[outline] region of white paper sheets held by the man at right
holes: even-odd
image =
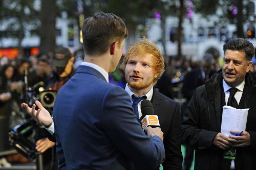
[[[223,106],[221,133],[232,135],[229,131],[245,131],[249,109],[236,109],[231,106]]]

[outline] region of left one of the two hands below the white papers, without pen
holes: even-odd
[[[212,141],[212,144],[214,144],[216,147],[227,150],[231,147],[233,143],[237,142],[234,139],[231,139],[224,135],[223,133],[218,133],[215,137],[214,140]]]

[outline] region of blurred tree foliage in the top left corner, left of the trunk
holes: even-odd
[[[15,38],[19,49],[25,33],[38,34],[39,9],[33,0],[0,1],[0,38]]]

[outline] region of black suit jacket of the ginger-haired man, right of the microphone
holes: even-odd
[[[180,105],[154,88],[152,105],[164,136],[164,169],[182,169]],[[137,169],[141,169],[136,167]],[[159,169],[159,168],[158,168]]]

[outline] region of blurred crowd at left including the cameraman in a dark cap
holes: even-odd
[[[75,57],[72,57],[68,48],[56,47],[53,56],[38,55],[28,59],[17,57],[15,60],[6,60],[4,57],[2,60],[5,62],[1,62],[0,71],[0,121],[3,127],[0,150],[7,151],[11,147],[8,132],[26,119],[26,112],[20,104],[38,99],[39,87],[44,90],[59,90],[74,73]],[[40,136],[35,139],[35,149],[40,153],[49,152],[50,154],[50,149],[54,150],[55,143],[48,140],[46,135],[42,129]],[[45,160],[48,158],[49,156],[45,156]],[[10,166],[8,160],[28,161],[21,156],[8,156],[7,159],[5,157],[2,159],[0,166]]]

